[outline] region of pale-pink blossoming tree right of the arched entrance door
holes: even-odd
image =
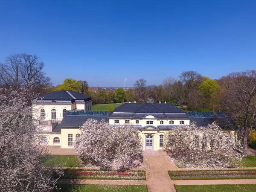
[[[207,127],[195,123],[166,132],[164,149],[175,163],[186,168],[231,167],[241,160],[241,147],[234,135],[227,134],[213,122]]]

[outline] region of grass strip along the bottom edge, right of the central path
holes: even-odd
[[[252,192],[256,184],[233,185],[174,185],[177,192]]]

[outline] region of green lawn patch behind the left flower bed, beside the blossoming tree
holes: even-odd
[[[64,164],[65,167],[93,167],[93,165],[84,165],[80,158],[76,155],[51,155],[51,160],[49,164]]]

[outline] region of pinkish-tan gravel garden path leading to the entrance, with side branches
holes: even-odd
[[[48,148],[52,154],[75,154],[73,149]],[[239,180],[171,180],[168,170],[181,170],[170,160],[164,151],[144,151],[144,162],[137,168],[146,171],[147,180],[59,180],[59,183],[74,184],[111,184],[111,185],[148,185],[149,192],[176,192],[174,185],[216,185],[216,184],[256,184],[256,179]],[[255,168],[241,168],[255,169]],[[185,170],[185,169],[182,169]],[[186,169],[187,170],[187,169]]]

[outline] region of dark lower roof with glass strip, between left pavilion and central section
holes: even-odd
[[[96,119],[98,122],[102,119],[109,122],[106,116],[64,116],[61,121],[61,127],[81,127],[87,119]]]

